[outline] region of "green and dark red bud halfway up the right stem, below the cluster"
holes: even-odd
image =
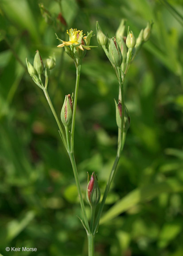
[[[121,105],[121,101],[118,101],[118,104],[115,101],[115,106],[116,106],[116,122],[117,122],[117,126],[118,128],[121,129],[121,116],[122,116],[122,105]],[[124,116],[124,131],[127,132],[128,128],[130,127],[130,116],[128,113],[128,109],[125,106],[125,116]]]

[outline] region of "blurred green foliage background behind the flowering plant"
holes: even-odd
[[[41,14],[36,0],[0,0],[0,252],[87,255],[70,161],[25,58],[33,62],[37,49],[43,60],[55,52],[48,91],[60,115],[64,96],[74,92],[75,67],[64,49],[56,48],[55,32],[63,40],[71,27],[96,33],[98,20],[112,37],[125,18],[136,37],[148,20],[154,25],[125,83],[131,127],[96,236],[96,256],[182,256],[183,1],[41,3],[51,16]],[[98,45],[96,36],[91,44]],[[86,172],[97,173],[103,193],[116,155],[117,94],[117,78],[102,48],[87,51],[75,128],[84,197]],[[37,252],[6,252],[7,246]]]

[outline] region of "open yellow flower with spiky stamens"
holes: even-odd
[[[84,51],[84,48],[86,50],[90,50],[90,48],[85,45],[85,42],[82,38],[82,30],[70,28],[69,31],[67,30],[67,34],[69,35],[69,41],[62,40],[62,44],[59,44],[57,47],[73,45],[75,47],[78,47],[82,51]]]

